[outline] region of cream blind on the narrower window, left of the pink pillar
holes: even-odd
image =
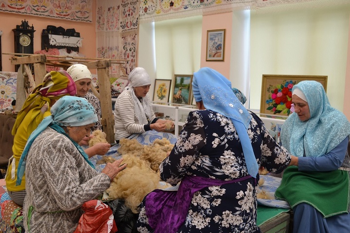
[[[149,40],[145,32],[141,31],[143,25],[143,23],[140,25],[140,38]],[[198,71],[202,43],[202,17],[165,20],[155,22],[154,25],[156,75],[152,77],[150,74],[151,78],[173,80],[175,74],[192,75],[193,72]],[[141,43],[140,40],[141,56],[138,64],[142,67],[147,64],[146,61],[152,60],[153,54],[141,52]],[[153,70],[150,65],[148,67]],[[149,93],[151,98],[153,91],[151,88]]]

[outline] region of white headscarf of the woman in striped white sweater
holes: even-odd
[[[134,100],[135,114],[139,119],[140,124],[148,124],[148,118],[151,118],[151,103],[148,94],[141,101],[135,95],[134,87],[150,85],[151,79],[147,71],[142,67],[134,68],[129,74],[129,84],[126,89],[130,91],[130,94]],[[147,115],[147,116],[146,116]]]

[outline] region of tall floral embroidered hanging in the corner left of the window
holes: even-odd
[[[139,28],[138,0],[99,0],[96,9],[97,56],[125,59],[125,64],[112,64],[111,78],[127,79],[136,65]]]

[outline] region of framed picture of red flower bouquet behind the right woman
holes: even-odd
[[[263,74],[260,113],[289,116],[293,112],[292,88],[295,84],[314,80],[327,91],[327,79],[328,76]]]

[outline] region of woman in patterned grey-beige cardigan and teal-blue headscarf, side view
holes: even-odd
[[[98,120],[87,100],[62,97],[51,114],[30,135],[17,170],[18,185],[25,171],[24,228],[31,233],[73,232],[83,214],[80,207],[126,167],[118,167],[123,160],[117,160],[98,173],[78,145]]]

